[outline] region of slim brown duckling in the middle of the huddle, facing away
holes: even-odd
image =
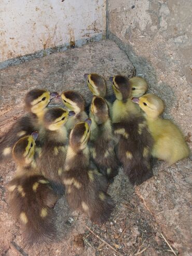
[[[108,179],[118,172],[118,160],[115,155],[115,142],[106,101],[94,96],[91,102],[90,152],[93,163]]]

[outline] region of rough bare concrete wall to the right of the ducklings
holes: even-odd
[[[108,0],[107,35],[191,142],[191,0]],[[190,143],[191,145],[191,143]]]

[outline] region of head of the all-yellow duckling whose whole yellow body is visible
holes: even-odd
[[[132,101],[138,103],[150,118],[157,118],[164,109],[163,101],[154,94],[146,94],[139,99],[133,98]]]

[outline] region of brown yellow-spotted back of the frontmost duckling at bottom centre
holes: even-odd
[[[67,202],[72,209],[86,213],[92,222],[103,224],[114,208],[113,200],[106,193],[108,182],[97,169],[85,166],[84,160],[78,154],[65,166],[62,177]]]

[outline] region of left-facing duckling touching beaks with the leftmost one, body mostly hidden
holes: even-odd
[[[71,131],[75,124],[88,118],[85,112],[85,100],[77,91],[63,91],[61,99],[67,109],[75,112],[75,115],[65,124],[67,131]]]

